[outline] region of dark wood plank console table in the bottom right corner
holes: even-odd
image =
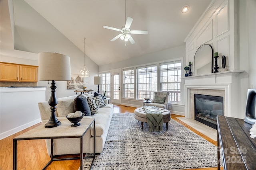
[[[217,116],[218,170],[220,149],[224,170],[256,169],[256,139],[250,138],[251,128],[244,119]]]

